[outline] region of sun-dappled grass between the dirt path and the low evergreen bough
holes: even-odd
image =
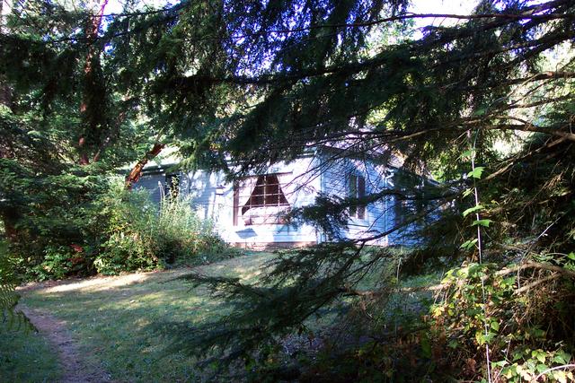
[[[93,354],[94,362],[103,361],[119,381],[133,381],[134,376],[195,381],[201,375],[195,359],[170,349],[179,341],[178,331],[208,325],[234,312],[234,306],[212,295],[207,286],[181,277],[200,273],[250,281],[270,257],[267,253],[162,272],[35,283],[20,293],[26,306],[66,322],[83,352]]]

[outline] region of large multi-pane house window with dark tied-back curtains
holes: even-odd
[[[246,226],[283,223],[281,215],[286,207],[288,199],[277,174],[246,179],[243,186],[234,185],[234,225],[239,217]]]

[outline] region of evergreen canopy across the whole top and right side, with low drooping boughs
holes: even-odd
[[[471,14],[414,14],[401,0],[128,2],[121,13],[106,4],[19,2],[3,24],[0,214],[14,239],[19,227],[35,235],[39,206],[62,215],[63,201],[89,203],[91,177],[143,166],[164,145],[179,148],[182,166],[229,178],[337,145],[333,161],[401,157],[406,170],[440,181],[365,201],[318,198],[294,212],[345,224],[350,205],[398,196],[417,208],[392,231],[419,222],[418,246],[401,260],[367,249],[367,239],[318,246],[279,257],[256,285],[197,277],[237,310],[182,336],[181,347],[252,355],[342,296],[385,295],[393,274],[378,291],[356,289],[382,265],[402,262],[409,274],[426,262],[478,262],[490,265],[481,273],[502,275],[526,258],[571,262],[571,1],[482,0]],[[416,33],[415,21],[434,18],[457,22]],[[57,192],[46,192],[56,179]],[[568,284],[558,288],[569,305]],[[553,327],[549,344],[568,342],[572,324],[553,319],[567,311],[533,318]]]

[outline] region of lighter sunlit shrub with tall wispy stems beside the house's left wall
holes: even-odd
[[[212,222],[199,219],[188,197],[164,197],[158,211],[146,190],[130,192],[118,182],[103,196],[102,214],[107,239],[93,262],[101,274],[152,270],[176,261],[206,262],[227,249]]]

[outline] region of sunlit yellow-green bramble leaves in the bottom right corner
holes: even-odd
[[[488,344],[497,381],[531,381],[537,376],[573,380],[569,368],[561,366],[571,362],[573,352],[569,340],[575,274],[558,275],[562,267],[569,273],[573,263],[557,266],[560,272],[551,283],[549,273],[542,273],[545,265],[498,270],[493,264],[470,264],[450,270],[442,282],[448,286],[446,299],[430,310],[434,347],[442,350],[438,358],[461,371],[458,376],[477,379],[486,376]],[[552,370],[555,367],[560,369]]]

